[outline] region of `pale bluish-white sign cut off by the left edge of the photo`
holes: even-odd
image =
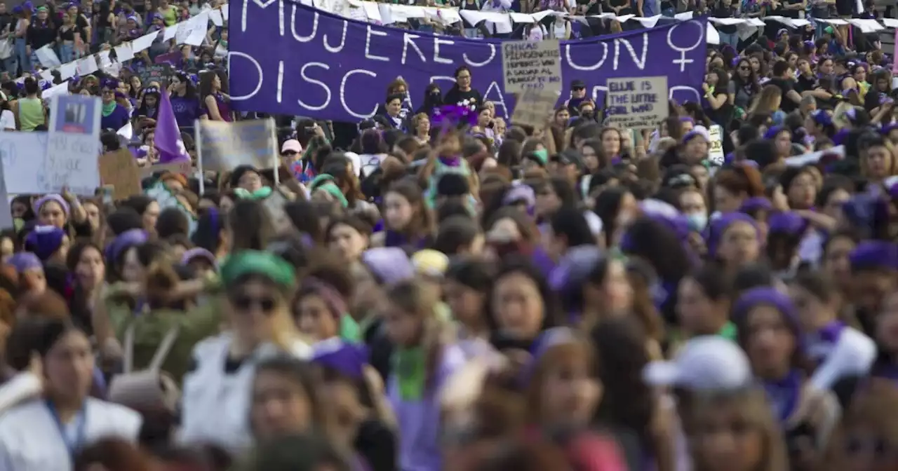
[[[0,133],[3,180],[11,195],[40,193],[38,174],[47,154],[48,133]]]

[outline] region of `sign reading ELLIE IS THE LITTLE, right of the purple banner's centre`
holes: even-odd
[[[667,111],[667,77],[608,79],[608,124],[655,129]]]

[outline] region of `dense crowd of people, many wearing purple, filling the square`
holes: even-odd
[[[35,48],[78,57],[206,6],[17,7],[2,132],[46,129]],[[449,90],[397,78],[361,123],[272,117],[277,169],[154,170],[163,94],[182,131],[269,118],[231,108],[226,31],[69,82],[101,98],[103,150],[179,205],[13,197],[3,471],[898,468],[898,96],[876,37],[722,41],[701,102],[651,130],[605,126],[585,77],[521,126],[462,66]]]

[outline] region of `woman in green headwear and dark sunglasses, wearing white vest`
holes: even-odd
[[[184,376],[182,439],[238,451],[250,444],[251,381],[272,354],[311,354],[290,316],[295,271],[269,252],[242,250],[221,268],[230,329],[200,342]]]

